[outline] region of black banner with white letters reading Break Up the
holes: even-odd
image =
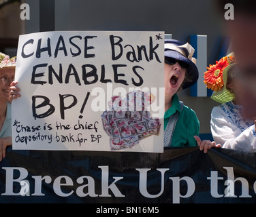
[[[0,162],[0,203],[255,203],[255,153],[15,151]]]

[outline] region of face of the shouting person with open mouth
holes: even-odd
[[[176,62],[175,64],[165,63],[164,70],[165,100],[171,100],[185,79],[186,68]]]

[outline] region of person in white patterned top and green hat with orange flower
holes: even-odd
[[[211,98],[219,103],[211,113],[211,132],[214,142],[201,141],[195,137],[204,153],[212,146],[240,151],[256,151],[255,124],[253,119],[244,119],[240,102],[243,96],[234,53],[210,65],[204,73],[206,87],[214,90]],[[250,140],[250,142],[249,142]]]

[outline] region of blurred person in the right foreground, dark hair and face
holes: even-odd
[[[256,117],[256,1],[218,0],[217,5],[223,15],[227,3],[234,6],[234,20],[225,21],[225,30],[231,38],[244,83],[242,113],[245,118],[252,119]]]

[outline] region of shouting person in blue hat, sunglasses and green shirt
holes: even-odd
[[[177,92],[193,85],[198,79],[193,52],[189,43],[165,39],[165,115],[164,146],[197,146],[199,121],[195,112],[178,100]]]

